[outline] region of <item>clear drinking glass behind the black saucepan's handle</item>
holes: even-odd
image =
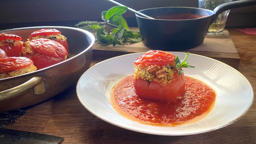
[[[199,8],[213,10],[218,5],[227,3],[233,0],[198,0]],[[224,11],[216,17],[213,23],[209,26],[207,35],[222,35],[230,10]]]

